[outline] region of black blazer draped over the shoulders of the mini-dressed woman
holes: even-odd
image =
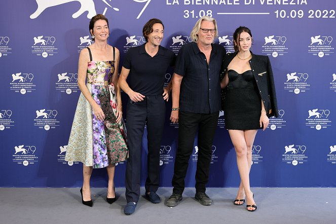
[[[226,56],[224,56],[221,77],[223,77],[227,72],[228,65],[236,56],[236,54],[237,53],[227,53]],[[262,100],[264,102],[267,117],[279,117],[277,96],[275,93],[275,85],[270,58],[264,55],[256,55],[252,52],[251,54],[252,58],[249,60],[250,67],[252,69],[256,84],[258,86],[260,96],[262,97]]]

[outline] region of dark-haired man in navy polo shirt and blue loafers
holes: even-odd
[[[156,194],[160,182],[160,145],[165,119],[165,100],[169,87],[163,88],[166,70],[173,66],[175,54],[160,46],[164,26],[159,19],[151,19],[143,26],[146,43],[128,50],[119,78],[119,85],[128,94],[127,139],[129,159],[126,167],[126,200],[124,213],[135,211],[140,197],[141,141],[147,122],[147,179],[146,198],[160,203]],[[129,77],[128,83],[126,82]]]

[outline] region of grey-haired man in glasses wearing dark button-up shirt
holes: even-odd
[[[213,44],[217,35],[216,20],[204,16],[197,21],[192,32],[192,43],[180,49],[173,74],[170,120],[178,124],[173,194],[166,205],[173,207],[182,200],[184,178],[198,129],[198,161],[195,198],[202,205],[211,205],[205,194],[211,162],[212,140],[217,128],[220,110],[219,73],[225,49]]]

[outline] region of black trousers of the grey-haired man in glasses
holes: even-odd
[[[209,178],[211,162],[211,146],[217,128],[219,111],[212,114],[195,114],[179,111],[178,147],[172,179],[173,192],[182,194],[184,178],[193,153],[194,140],[198,129],[198,159],[196,170],[196,192],[205,192],[205,184]]]

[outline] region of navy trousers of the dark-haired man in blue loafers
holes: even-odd
[[[146,96],[141,102],[128,102],[126,113],[129,159],[126,166],[126,200],[138,202],[140,197],[141,142],[147,121],[146,192],[156,192],[160,183],[160,145],[165,123],[166,105],[162,95]]]

